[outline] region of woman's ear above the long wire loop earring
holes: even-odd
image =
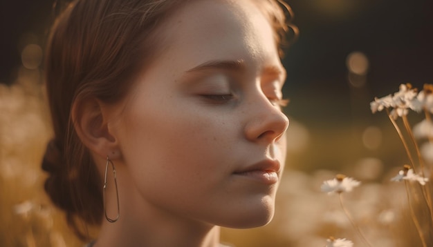
[[[109,111],[104,111],[104,104],[98,99],[76,100],[71,117],[75,131],[84,146],[95,155],[106,159],[118,159],[120,150],[118,141],[109,131]]]

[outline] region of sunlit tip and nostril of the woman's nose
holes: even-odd
[[[287,116],[266,98],[255,102],[250,105],[252,114],[245,126],[246,138],[266,144],[277,141],[288,128]]]

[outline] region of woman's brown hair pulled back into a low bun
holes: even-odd
[[[194,1],[194,0],[190,0]],[[290,8],[279,0],[254,0],[269,19],[276,45],[285,44]],[[185,0],[77,0],[55,21],[46,46],[45,77],[54,138],[42,168],[49,173],[45,190],[77,237],[79,227],[100,225],[102,181],[71,119],[77,101],[95,97],[106,103],[123,99],[138,73],[160,51],[158,26]],[[284,12],[284,8],[287,12]],[[292,30],[297,32],[293,27]]]

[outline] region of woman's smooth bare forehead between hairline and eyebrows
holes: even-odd
[[[181,52],[190,66],[210,59],[279,59],[270,23],[251,0],[190,1],[165,20],[160,34],[165,54]]]

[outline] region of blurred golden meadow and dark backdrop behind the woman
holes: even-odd
[[[433,246],[433,187],[391,181],[411,161],[387,113],[370,109],[375,97],[398,92],[402,83],[418,90],[433,83],[432,1],[288,3],[300,37],[284,57],[290,99],[284,110],[291,124],[277,211],[263,228],[223,229],[223,241],[313,247],[326,246],[332,236],[369,246],[360,231],[371,246]],[[43,78],[52,6],[48,0],[0,3],[0,246],[83,245],[46,197],[40,168],[52,137]],[[424,118],[407,115],[412,127]],[[396,123],[404,124],[402,118]],[[431,177],[433,151],[420,147],[423,171]],[[338,195],[322,192],[324,181],[340,173],[360,186]]]

